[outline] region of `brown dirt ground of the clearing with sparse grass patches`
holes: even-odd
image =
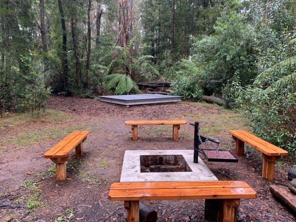
[[[125,107],[94,99],[52,97],[51,117],[37,120],[8,115],[0,120],[0,221],[126,221],[123,202],[109,201],[110,184],[119,182],[125,150],[193,149],[193,126],[181,125],[180,139],[172,140],[172,126],[140,126],[139,141],[131,140],[126,120],[181,119],[200,122],[201,133],[218,138],[233,153],[230,129],[249,129],[235,111],[206,103]],[[54,164],[43,157],[75,129],[91,130],[84,155],[68,162],[67,180],[55,180]],[[204,145],[205,146],[205,145]],[[207,148],[215,145],[207,144]],[[247,149],[238,163],[206,162],[219,180],[243,180],[258,197],[243,199],[240,222],[294,222],[296,218],[277,202],[271,184],[287,185],[287,166],[279,163],[275,180],[261,177],[261,153]],[[202,222],[204,200],[147,201],[158,212],[158,222]]]

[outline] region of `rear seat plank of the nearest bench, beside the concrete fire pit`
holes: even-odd
[[[244,181],[215,181],[215,183],[209,183],[209,181],[186,181],[186,182],[123,182],[113,183],[111,189],[161,189],[161,188],[221,188],[221,187],[232,187],[232,188],[245,188],[250,187]]]

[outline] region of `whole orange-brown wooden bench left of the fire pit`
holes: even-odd
[[[75,148],[75,157],[81,158],[83,152],[82,143],[86,140],[90,131],[74,131],[53,148],[44,153],[45,158],[50,158],[56,164],[56,180],[65,180],[67,177],[66,161],[70,152]]]

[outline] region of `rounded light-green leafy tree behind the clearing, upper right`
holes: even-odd
[[[251,26],[244,24],[240,14],[230,10],[222,14],[214,29],[213,35],[203,36],[194,43],[194,59],[204,71],[204,80],[207,83],[218,80],[226,84],[237,74],[243,85],[249,84],[256,74]],[[221,87],[214,92],[220,93],[220,90]]]

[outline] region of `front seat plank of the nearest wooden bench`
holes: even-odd
[[[208,186],[194,188],[158,188],[157,183],[161,186],[162,182],[154,182],[150,189],[113,189],[109,192],[109,199],[116,201],[132,200],[169,200],[169,199],[240,199],[254,198],[256,192],[249,186],[247,187],[210,187],[215,185],[216,181],[208,181]],[[186,186],[187,182],[183,182]],[[198,182],[196,182],[198,184]],[[149,183],[148,183],[149,184]],[[152,188],[153,187],[153,188]]]

